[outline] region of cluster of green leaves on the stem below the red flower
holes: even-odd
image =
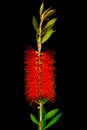
[[[47,103],[47,99],[43,99],[42,103],[43,103],[43,106],[42,106],[42,115],[43,115],[42,116],[42,130],[46,130],[47,128],[54,125],[60,119],[62,112],[58,113],[59,109],[53,109],[49,112],[46,112],[44,104]],[[40,115],[40,111],[39,111],[39,115]],[[30,114],[30,118],[31,118],[33,123],[38,125],[38,129],[39,129],[39,120],[36,119],[36,117],[33,114]]]

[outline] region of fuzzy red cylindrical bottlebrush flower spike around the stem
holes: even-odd
[[[25,94],[30,103],[55,98],[54,54],[47,51],[39,55],[29,47],[25,51]]]

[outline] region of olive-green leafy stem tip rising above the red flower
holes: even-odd
[[[52,16],[55,12],[56,10],[51,9],[51,7],[44,10],[44,2],[42,2],[39,9],[40,22],[38,23],[36,17],[33,16],[32,23],[36,31],[36,41],[37,41],[37,48],[39,53],[41,52],[42,44],[45,43],[55,32],[55,30],[53,30],[53,26],[57,18],[50,19],[50,16]],[[43,26],[44,21],[45,21],[45,25]]]

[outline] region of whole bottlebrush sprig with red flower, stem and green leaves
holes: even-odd
[[[39,119],[30,114],[30,118],[38,126],[38,130],[46,130],[51,127],[62,115],[62,112],[57,114],[59,112],[57,108],[46,112],[44,107],[45,103],[54,102],[56,98],[54,52],[41,52],[42,44],[55,32],[53,26],[57,18],[50,19],[55,11],[51,8],[44,10],[44,2],[42,2],[39,9],[39,24],[35,16],[32,19],[36,31],[37,50],[31,46],[25,50],[25,95],[30,105],[38,104]],[[51,120],[48,122],[48,119]]]

